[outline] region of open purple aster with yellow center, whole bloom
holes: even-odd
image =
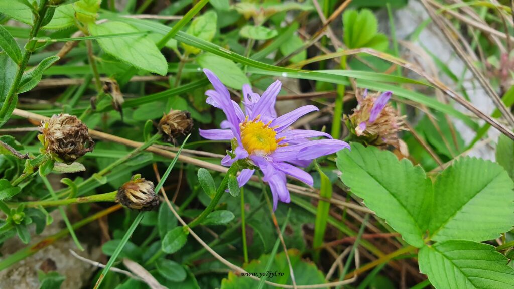
[[[290,202],[286,174],[313,185],[313,177],[296,166],[305,167],[317,157],[350,149],[346,142],[332,139],[323,132],[286,130],[300,117],[318,111],[318,108],[306,105],[277,117],[274,104],[282,86],[280,81],[273,82],[262,96],[253,93],[250,85],[244,85],[243,112],[230,99],[227,87],[216,75],[208,69],[204,69],[204,73],[214,87],[205,93],[207,103],[222,109],[227,120],[222,122],[221,130],[200,130],[200,135],[212,140],[231,140],[232,151],[223,158],[222,165],[231,166],[237,160],[250,164],[237,177],[240,187],[248,182],[255,169],[263,172],[263,180],[268,182],[273,196],[273,210],[277,208],[278,200]],[[327,139],[308,139],[313,137]]]

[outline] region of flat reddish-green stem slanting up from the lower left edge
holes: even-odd
[[[95,220],[102,218],[103,216],[106,216],[116,210],[119,210],[120,208],[121,208],[121,205],[119,205],[119,204],[114,205],[110,208],[100,211],[94,215],[87,217],[86,219],[83,219],[83,220],[73,224],[72,228],[77,230],[80,227],[85,226],[86,224],[89,224]],[[58,232],[50,237],[47,237],[32,246],[25,247],[24,249],[21,249],[21,250],[15,252],[14,254],[7,256],[5,259],[0,261],[0,271],[2,271],[5,268],[8,268],[9,266],[11,266],[14,263],[17,263],[29,256],[36,254],[39,250],[50,246],[51,244],[55,243],[57,240],[66,236],[68,234],[68,232],[69,232],[68,229],[63,229],[60,232]]]

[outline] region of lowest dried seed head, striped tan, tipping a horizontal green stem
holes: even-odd
[[[116,202],[127,208],[151,211],[159,206],[159,196],[154,191],[154,183],[136,174],[118,189]]]

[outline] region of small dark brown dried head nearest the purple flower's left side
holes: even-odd
[[[171,142],[177,136],[186,135],[193,129],[191,114],[187,111],[171,110],[161,118],[158,129],[164,140]]]

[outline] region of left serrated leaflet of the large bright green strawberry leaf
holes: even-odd
[[[419,166],[389,151],[352,143],[337,153],[341,180],[371,210],[415,247],[424,245],[432,204],[432,183]]]

